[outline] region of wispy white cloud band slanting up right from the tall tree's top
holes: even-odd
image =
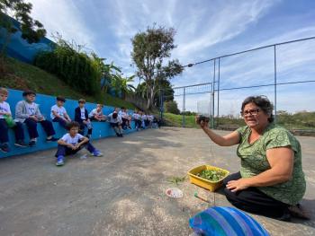
[[[246,31],[249,24],[257,22],[272,4],[275,2],[231,1],[221,2],[221,5],[214,4],[207,11],[203,9],[202,12],[196,13],[199,19],[184,24],[184,29],[187,28],[188,31],[193,29],[193,32],[178,36],[180,46],[176,49],[175,56],[180,58],[192,56],[205,48],[236,37]]]

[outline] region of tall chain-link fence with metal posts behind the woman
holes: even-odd
[[[253,48],[190,64],[184,73],[198,74],[207,66],[208,82],[174,87],[174,98],[186,127],[187,114],[207,113],[211,127],[244,124],[242,101],[266,95],[274,104],[275,122],[286,127],[315,131],[315,37]],[[161,93],[161,117],[163,101]],[[203,105],[202,105],[203,104]],[[207,111],[207,112],[205,112]],[[288,120],[293,118],[290,124]]]

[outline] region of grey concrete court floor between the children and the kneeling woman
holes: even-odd
[[[223,133],[223,132],[220,132]],[[253,215],[271,235],[315,235],[315,137],[299,137],[311,221],[279,222]],[[220,147],[197,129],[165,127],[106,138],[54,165],[54,150],[0,159],[0,235],[189,235],[188,220],[214,205],[229,205],[185,179],[184,197],[166,197],[171,177],[211,164],[238,170],[236,147]],[[197,191],[211,204],[193,197]]]

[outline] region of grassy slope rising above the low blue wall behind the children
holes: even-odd
[[[36,66],[15,60],[14,58],[6,58],[5,67],[7,74],[4,75],[4,78],[0,79],[0,86],[16,90],[31,89],[35,92],[53,96],[63,95],[73,100],[85,98],[86,101],[104,103],[107,106],[113,107],[135,108],[130,102],[114,98],[107,93],[87,96],[76,92],[55,75],[49,74]]]

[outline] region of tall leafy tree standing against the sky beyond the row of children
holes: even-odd
[[[137,66],[137,75],[146,84],[147,109],[152,107],[158,83],[169,80],[181,74],[183,66],[177,59],[165,61],[171,57],[171,51],[176,48],[174,44],[175,30],[154,25],[147,31],[137,33],[132,41],[131,57]]]

